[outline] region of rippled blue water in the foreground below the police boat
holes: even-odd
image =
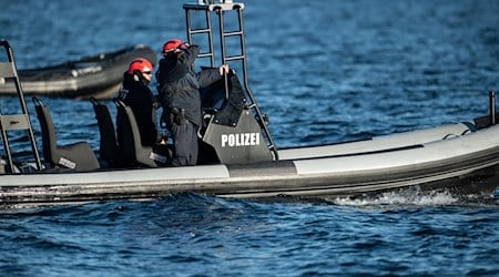
[[[497,275],[497,203],[182,194],[1,214],[0,271],[26,276]],[[441,198],[447,198],[442,202]]]

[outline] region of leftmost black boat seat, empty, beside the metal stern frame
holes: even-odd
[[[33,98],[37,116],[42,132],[43,157],[53,167],[74,171],[93,171],[100,168],[99,161],[90,144],[78,142],[69,145],[57,145],[55,127],[49,107]]]

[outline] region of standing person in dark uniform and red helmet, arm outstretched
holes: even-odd
[[[200,89],[221,80],[228,72],[224,64],[195,73],[194,61],[198,53],[197,45],[179,39],[170,40],[163,44],[163,59],[156,72],[163,121],[174,143],[173,166],[196,164],[197,130],[202,125]]]

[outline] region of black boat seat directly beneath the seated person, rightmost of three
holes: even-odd
[[[166,145],[156,144],[154,146],[142,145],[139,125],[135,115],[130,106],[120,100],[114,100],[118,107],[118,129],[121,129],[118,137],[119,151],[126,166],[159,167],[165,166],[170,162],[171,154]]]

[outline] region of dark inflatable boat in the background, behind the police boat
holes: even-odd
[[[157,58],[151,48],[142,44],[114,52],[99,53],[61,64],[19,70],[19,79],[27,94],[63,98],[109,98],[116,94],[123,72],[130,62],[143,57],[155,63]],[[0,79],[0,95],[16,95],[12,82]]]

